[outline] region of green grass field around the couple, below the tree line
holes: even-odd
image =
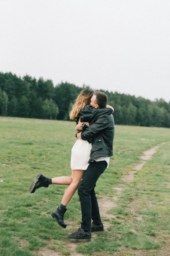
[[[115,217],[102,216],[107,228],[92,233],[91,242],[73,243],[67,235],[81,223],[77,192],[67,206],[68,228],[63,229],[50,212],[66,186],[50,185],[34,194],[29,186],[38,173],[71,174],[74,127],[67,121],[0,117],[0,255],[170,255],[170,129],[115,127],[109,169],[96,186],[98,198],[114,202],[117,196],[117,207],[108,211]],[[123,182],[122,175],[133,170],[143,151],[162,142],[167,143],[134,180]],[[119,194],[117,187],[122,188]]]

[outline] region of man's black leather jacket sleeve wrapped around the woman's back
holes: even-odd
[[[92,138],[102,131],[106,130],[108,127],[107,116],[102,116],[92,123],[86,130],[81,132],[81,138],[83,140],[91,140]]]

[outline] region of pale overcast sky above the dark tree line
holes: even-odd
[[[169,0],[1,0],[0,71],[170,101]]]

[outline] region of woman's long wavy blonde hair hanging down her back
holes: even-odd
[[[74,120],[77,118],[78,113],[81,111],[84,106],[90,104],[90,100],[93,96],[93,91],[91,89],[84,89],[80,92],[75,103],[73,105],[72,110],[70,111],[70,119]]]

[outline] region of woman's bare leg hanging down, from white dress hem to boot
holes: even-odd
[[[70,183],[66,191],[64,192],[63,199],[61,201],[61,204],[66,206],[74,193],[76,192],[78,185],[80,183],[81,177],[83,176],[84,171],[83,170],[72,170],[74,171],[74,178],[73,181]]]

